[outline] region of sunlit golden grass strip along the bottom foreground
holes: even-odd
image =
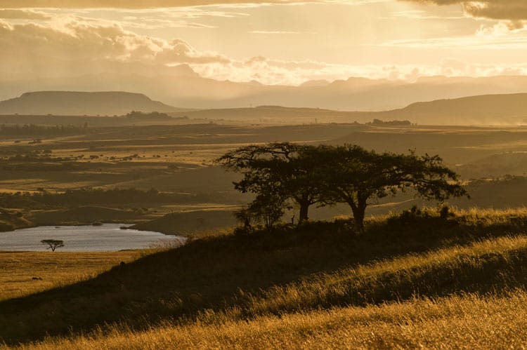
[[[527,349],[527,293],[415,299],[216,323],[114,327],[20,349]]]

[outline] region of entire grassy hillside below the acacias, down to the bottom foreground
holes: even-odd
[[[4,300],[0,338],[91,349],[525,344],[511,310],[527,299],[526,214],[413,210],[370,220],[362,235],[339,220],[210,236]],[[475,337],[494,323],[494,337]]]

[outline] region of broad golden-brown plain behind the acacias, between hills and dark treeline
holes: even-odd
[[[525,128],[448,126],[178,126],[89,128],[82,135],[0,136],[2,191],[64,191],[79,187],[136,187],[160,191],[232,190],[232,175],[212,161],[249,143],[359,144],[379,152],[440,154],[464,177],[523,175]],[[35,142],[37,138],[38,142]],[[493,166],[490,166],[492,165]],[[225,196],[228,198],[229,196]]]

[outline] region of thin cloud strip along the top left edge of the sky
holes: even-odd
[[[305,0],[0,0],[2,8],[162,8],[221,4],[295,4]],[[317,2],[317,1],[311,1]]]

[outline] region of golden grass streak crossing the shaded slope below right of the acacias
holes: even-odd
[[[429,295],[434,294],[430,290],[431,283],[436,283],[438,290],[435,292],[440,293],[441,285],[447,288],[453,283],[453,277],[449,274],[467,275],[470,278],[471,274],[481,274],[479,271],[483,271],[489,260],[510,262],[521,251],[527,251],[527,237],[501,237],[468,246],[453,246],[431,253],[409,254],[357,265],[329,274],[318,274],[289,285],[275,286],[261,296],[248,296],[249,310],[251,314],[275,314],[281,310],[301,309],[299,305],[316,308],[324,304],[341,304],[346,300],[352,302],[353,299],[360,302],[361,295],[368,300],[368,294],[377,293],[393,293],[404,298],[403,294],[408,290],[400,288],[400,285],[405,285],[414,295],[419,295],[419,292]],[[435,281],[430,280],[430,274],[434,275]],[[476,276],[474,279],[477,279]]]

